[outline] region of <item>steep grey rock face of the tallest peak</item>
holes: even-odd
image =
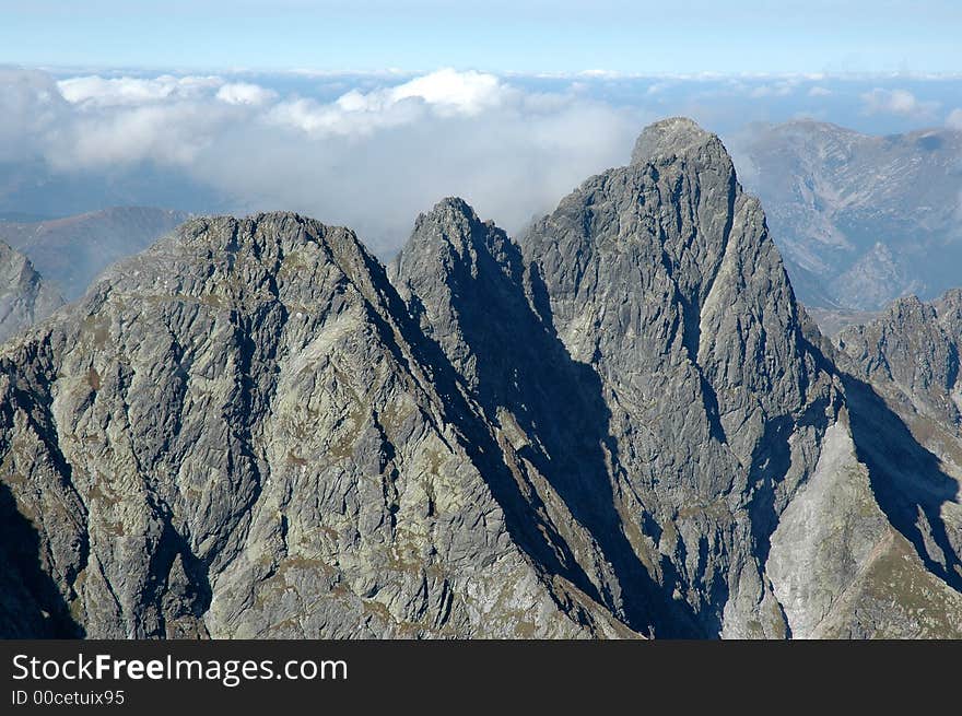
[[[782,636],[769,538],[814,468],[832,377],[718,138],[667,120],[633,160],[562,200],[525,255],[600,378],[619,512],[666,596],[695,634]]]

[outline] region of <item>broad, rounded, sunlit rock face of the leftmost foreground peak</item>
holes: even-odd
[[[345,230],[200,220],[8,348],[4,529],[42,570],[4,536],[2,631],[627,634],[513,538],[399,307]]]

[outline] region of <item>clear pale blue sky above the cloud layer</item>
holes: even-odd
[[[0,62],[175,69],[962,71],[962,2],[0,0]]]

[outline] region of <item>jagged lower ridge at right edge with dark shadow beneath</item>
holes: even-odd
[[[859,454],[871,468],[878,504],[898,530],[879,570],[898,575],[888,577],[890,584],[903,585],[899,609],[885,610],[877,589],[868,589],[866,597],[871,623],[885,624],[893,635],[905,630],[960,634],[960,308],[959,291],[930,304],[900,298],[879,318],[837,338],[849,404],[875,416],[861,426],[853,420]],[[914,564],[924,565],[926,573],[915,568],[910,577],[901,572],[912,547]],[[912,608],[906,611],[905,605]],[[833,630],[857,635],[864,625]]]

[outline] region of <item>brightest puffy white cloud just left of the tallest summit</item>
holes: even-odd
[[[259,125],[204,150],[197,176],[248,198],[247,210],[306,211],[390,254],[418,212],[449,195],[520,228],[586,176],[625,163],[652,119],[577,93],[523,92],[474,73],[449,79],[329,103],[283,99]]]

